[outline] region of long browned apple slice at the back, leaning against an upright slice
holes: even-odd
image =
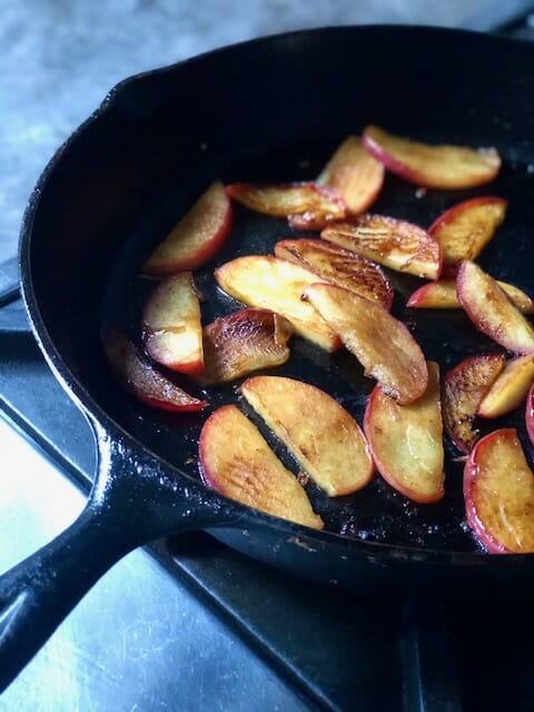
[[[298,229],[320,230],[347,212],[343,198],[315,182],[234,182],[226,186],[226,194],[256,212],[287,217]]]

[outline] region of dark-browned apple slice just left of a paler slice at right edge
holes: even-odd
[[[468,356],[449,370],[442,385],[443,424],[448,437],[468,454],[478,439],[473,423],[478,407],[504,367],[504,354]]]

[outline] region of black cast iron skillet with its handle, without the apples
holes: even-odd
[[[98,473],[79,520],[0,580],[2,686],[109,566],[136,546],[186,530],[208,528],[260,561],[356,591],[532,590],[533,558],[487,556],[465,531],[462,465],[452,451],[447,496],[438,505],[415,507],[378,478],[335,502],[310,488],[327,523],[320,533],[208,491],[195,462],[206,414],[165,415],[132,399],[107,367],[100,334],[118,322],[138,337],[136,317],[150,287],[139,267],[212,179],[313,178],[337,144],[368,122],[422,140],[498,148],[504,167],[488,187],[422,197],[388,176],[373,209],[428,225],[473,195],[508,198],[506,224],[481,261],[533,293],[533,67],[531,44],[463,31],[297,32],[129,79],[61,147],[24,217],[22,290],[48,363],[92,427]],[[217,261],[269,251],[288,234],[283,221],[237,210]],[[205,322],[237,306],[215,289],[214,265],[197,275]],[[428,358],[446,369],[494,348],[459,312],[407,312],[404,297],[415,281],[397,280],[394,308]],[[316,383],[360,419],[372,384],[347,355],[328,356],[297,339],[277,373]],[[234,386],[208,397],[211,409],[238,399]],[[521,414],[505,423],[524,438]]]

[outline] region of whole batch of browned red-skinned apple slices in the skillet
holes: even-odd
[[[241,379],[287,362],[297,337],[327,353],[346,349],[354,368],[376,380],[363,428],[314,384],[249,377],[235,402],[202,425],[198,464],[205,483],[322,528],[308,481],[327,496],[343,496],[365,487],[376,469],[413,502],[439,501],[445,433],[467,458],[465,515],[481,545],[493,553],[534,551],[534,475],[520,437],[497,428],[478,439],[476,428],[478,418],[500,418],[525,404],[534,443],[534,300],[475,261],[505,220],[507,201],[469,198],[429,227],[368,212],[387,171],[424,189],[461,190],[490,182],[500,168],[494,148],[429,146],[368,126],[337,148],[314,181],[215,181],[144,265],[144,274],[159,281],[140,314],[142,346],[119,332],[106,335],[115,373],[150,406],[201,411],[209,396],[182,390],[177,374],[200,387]],[[215,266],[216,284],[244,308],[202,327],[195,270],[227,241],[235,202],[285,218],[291,236],[274,235],[271,254],[241,254]],[[495,349],[466,354],[441,375],[390,314],[389,270],[429,280],[406,307],[463,309]],[[275,454],[278,447],[293,458],[297,476]]]

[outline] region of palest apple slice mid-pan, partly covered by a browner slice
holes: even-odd
[[[248,306],[271,309],[285,316],[295,332],[327,352],[340,346],[339,337],[301,299],[306,287],[320,277],[286,259],[266,255],[246,255],[215,270],[219,286]]]

